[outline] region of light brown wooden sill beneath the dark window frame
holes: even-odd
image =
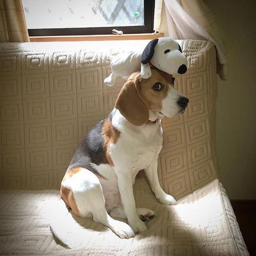
[[[75,35],[75,36],[30,36],[30,42],[68,42],[68,41],[108,41],[142,40],[163,37],[163,34],[110,34],[110,35]]]

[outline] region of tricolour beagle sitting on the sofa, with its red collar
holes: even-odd
[[[121,238],[147,230],[152,210],[136,208],[133,184],[144,169],[159,202],[175,204],[158,181],[161,118],[185,111],[188,99],[173,87],[172,75],[152,69],[149,79],[133,73],[108,118],[82,140],[61,182],[60,195],[80,217],[112,229]],[[128,224],[114,218],[127,218]]]

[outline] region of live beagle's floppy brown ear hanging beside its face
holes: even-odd
[[[139,75],[129,79],[118,94],[115,104],[120,113],[133,125],[143,125],[149,118],[148,106],[138,92]]]

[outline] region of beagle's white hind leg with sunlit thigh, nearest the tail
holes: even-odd
[[[91,212],[95,222],[108,226],[121,238],[134,236],[130,226],[114,220],[108,215],[101,184],[93,172],[82,169],[70,178],[69,183],[68,181],[66,183],[74,193],[75,203],[81,217],[87,217]]]

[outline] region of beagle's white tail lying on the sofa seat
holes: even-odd
[[[51,231],[59,241],[65,246],[71,248],[68,241],[67,219],[69,215],[69,208],[65,202],[60,198],[59,200],[49,200],[44,207],[44,215],[48,219]]]

